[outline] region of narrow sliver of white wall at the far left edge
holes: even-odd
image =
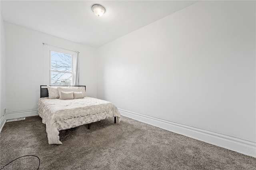
[[[0,131],[6,120],[4,115],[4,109],[6,108],[6,87],[5,87],[5,32],[4,32],[4,20],[2,15],[0,15]]]

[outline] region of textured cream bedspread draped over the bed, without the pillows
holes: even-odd
[[[46,124],[49,144],[62,144],[59,130],[110,117],[117,117],[118,123],[120,122],[120,113],[115,105],[92,97],[70,100],[43,97],[38,101],[38,115],[42,118],[42,123]]]

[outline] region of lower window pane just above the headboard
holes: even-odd
[[[72,73],[61,73],[52,71],[51,85],[71,85]]]

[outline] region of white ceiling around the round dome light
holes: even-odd
[[[10,1],[1,0],[4,21],[73,42],[99,47],[142,28],[197,1]],[[106,13],[97,17],[91,10],[101,4]]]

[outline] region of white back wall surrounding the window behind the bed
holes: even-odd
[[[6,33],[6,117],[34,115],[43,85],[43,42],[80,51],[80,85],[96,97],[96,49],[4,22]]]

